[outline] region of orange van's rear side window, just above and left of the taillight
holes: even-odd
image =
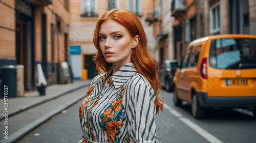
[[[187,67],[196,67],[202,45],[193,46],[189,55]]]

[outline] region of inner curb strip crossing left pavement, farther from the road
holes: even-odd
[[[91,83],[85,83],[85,84],[80,85],[80,86],[78,86],[78,87],[75,87],[75,88],[73,88],[73,89],[71,89],[71,90],[69,90],[69,91],[61,92],[61,93],[59,93],[59,94],[57,94],[57,95],[55,95],[55,96],[51,96],[51,97],[46,98],[46,99],[44,99],[44,100],[41,100],[41,101],[32,103],[32,104],[30,104],[30,105],[23,106],[23,107],[21,107],[21,108],[18,108],[18,109],[16,109],[16,110],[13,110],[13,111],[11,111],[11,112],[8,113],[8,118],[9,118],[9,117],[12,117],[12,116],[14,116],[14,115],[16,115],[16,114],[19,113],[19,112],[25,111],[25,110],[27,110],[27,109],[29,109],[29,108],[31,108],[31,107],[37,106],[37,105],[39,105],[39,104],[45,103],[45,102],[47,102],[47,101],[50,101],[50,100],[52,100],[52,99],[58,98],[59,96],[62,96],[62,95],[71,93],[71,92],[73,92],[73,91],[75,91],[75,90],[81,89],[81,88],[83,88],[83,87],[89,86],[90,84],[91,84]],[[5,117],[0,117],[0,121],[2,121],[3,119],[5,119]]]

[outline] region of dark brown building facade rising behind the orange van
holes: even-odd
[[[218,34],[256,35],[254,0],[173,0],[174,59],[181,60],[188,44]]]

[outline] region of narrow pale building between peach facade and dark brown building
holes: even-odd
[[[148,17],[147,21],[152,21],[154,25],[154,37],[157,42],[157,61],[161,65],[164,60],[174,59],[173,52],[173,24],[171,17],[172,0],[155,0],[154,16]]]

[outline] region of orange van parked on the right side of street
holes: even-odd
[[[208,107],[251,109],[256,117],[256,36],[216,35],[192,41],[174,81],[174,104],[191,104],[195,118]]]

